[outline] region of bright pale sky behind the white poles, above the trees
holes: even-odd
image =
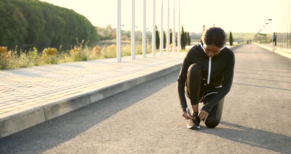
[[[41,0],[73,9],[85,16],[94,26],[117,25],[117,0]],[[168,0],[155,0],[156,25],[167,31]],[[178,30],[179,0],[175,0],[175,30]],[[273,33],[276,31],[277,0],[181,0],[181,26],[184,31],[201,33],[203,25],[222,28],[225,32]],[[173,29],[174,0],[170,0],[170,28]],[[146,28],[152,31],[153,0],[146,0]],[[268,19],[273,19],[268,21]],[[265,25],[265,23],[269,23]],[[132,0],[121,0],[121,29],[131,30]],[[135,0],[135,25],[143,29],[143,0]],[[266,26],[263,28],[263,26]]]

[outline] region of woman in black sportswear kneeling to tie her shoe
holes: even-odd
[[[206,30],[201,39],[203,43],[188,51],[178,77],[182,116],[189,119],[187,128],[190,129],[200,129],[200,120],[208,128],[219,124],[235,63],[234,53],[224,46],[226,35],[221,28]],[[187,108],[185,94],[191,101],[192,115]],[[204,106],[198,112],[200,102]]]

